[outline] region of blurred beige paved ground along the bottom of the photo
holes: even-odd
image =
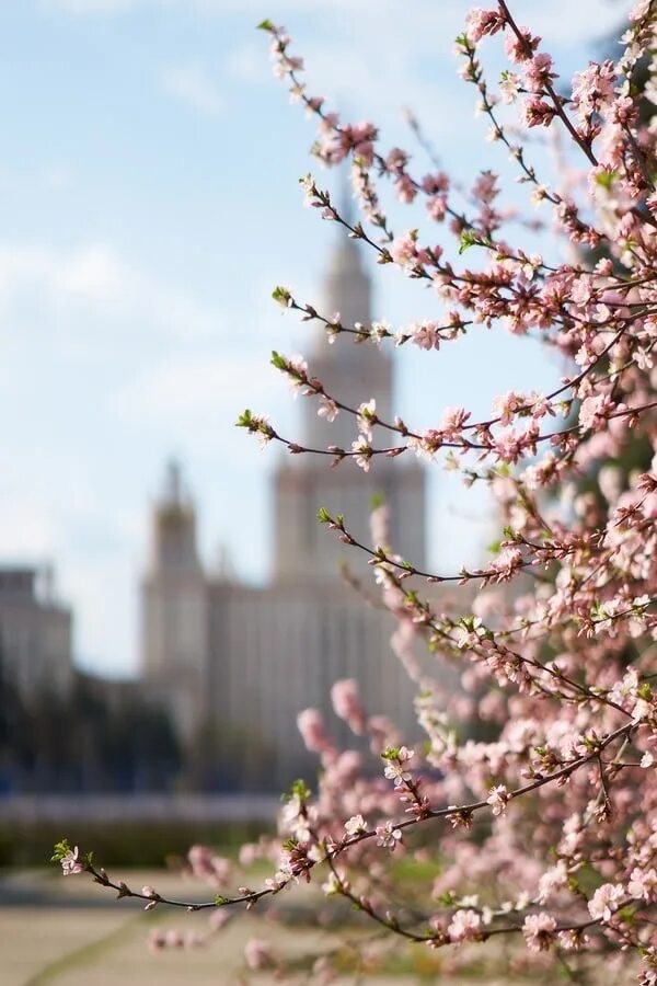
[[[155,886],[165,895],[184,899],[209,899],[203,887],[166,873],[112,873],[130,886]],[[302,891],[302,888],[298,888]],[[291,903],[292,898],[288,898]],[[302,956],[313,949],[328,950],[337,939],[330,932],[273,924],[257,910],[231,920],[206,945],[168,948],[153,952],[149,933],[159,928],[183,936],[208,933],[205,914],[154,908],[146,914],[138,902],[117,902],[115,894],[84,878],[62,878],[55,868],[39,873],[15,873],[0,880],[0,986],[273,986],[270,974],[247,976],[243,951],[250,938],[262,938],[287,956]],[[360,935],[360,931],[355,931]],[[438,953],[422,952],[427,961],[441,961]],[[479,959],[477,954],[477,959]],[[448,953],[445,954],[449,961]],[[419,974],[419,967],[418,967]],[[308,974],[286,978],[290,984],[312,984]],[[336,986],[511,986],[546,983],[534,972],[527,977],[479,975],[472,979],[449,975],[344,976]],[[618,978],[601,972],[596,986],[619,986]]]

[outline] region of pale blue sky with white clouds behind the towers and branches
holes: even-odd
[[[223,543],[245,577],[266,577],[276,454],[233,422],[252,406],[293,432],[268,354],[302,352],[313,330],[269,293],[283,283],[316,300],[336,230],[302,207],[299,176],[333,177],[308,158],[312,127],[273,79],[255,23],[283,21],[312,91],[377,121],[385,145],[411,142],[410,105],[464,182],[508,171],[456,74],[466,3],[263,2],[0,4],[0,560],[54,561],[76,656],[102,673],[137,666],[149,502],[172,454],[204,557]],[[514,10],[568,74],[626,5]],[[423,221],[392,210],[400,229]],[[379,316],[435,310],[399,272],[372,274]],[[448,404],[485,413],[495,393],[548,387],[562,369],[532,343],[480,333],[428,359],[402,353],[399,406],[419,425]],[[445,569],[481,550],[492,519],[445,474],[431,491],[430,553]]]

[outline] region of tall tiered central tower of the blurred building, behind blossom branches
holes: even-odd
[[[342,231],[341,231],[342,232]],[[324,283],[324,310],[339,312],[346,326],[371,323],[371,285],[362,264],[360,245],[342,236],[330,259]],[[384,346],[355,344],[354,336],[338,335],[330,344],[318,332],[309,354],[310,372],[327,393],[351,408],[374,398],[377,414],[393,416],[393,365]],[[353,415],[341,411],[333,422],[318,415],[318,401],[302,403],[302,443],[310,448],[336,445],[350,449],[357,438]],[[393,436],[374,428],[373,445],[394,444]],[[373,457],[365,473],[353,460],[327,468],[325,457],[300,455],[281,463],[275,474],[275,559],[278,582],[335,578],[342,560],[362,572],[366,558],[346,549],[316,521],[320,506],[344,514],[350,534],[371,544],[369,515],[372,498],[381,495],[390,508],[391,548],[415,564],[425,553],[425,473],[416,461]]]

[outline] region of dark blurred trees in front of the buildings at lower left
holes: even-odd
[[[262,740],[199,723],[183,744],[140,689],[76,672],[66,698],[38,689],[26,700],[0,654],[0,796],[272,789]]]

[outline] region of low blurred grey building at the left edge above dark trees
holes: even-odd
[[[36,692],[65,698],[72,687],[72,616],[56,597],[53,572],[0,567],[0,666],[24,701]]]

